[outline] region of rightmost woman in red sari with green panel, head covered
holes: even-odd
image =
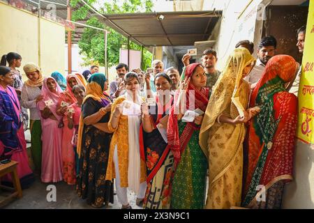
[[[284,185],[292,180],[297,97],[285,86],[296,70],[292,56],[273,56],[251,95],[250,107],[261,112],[248,123],[244,207],[280,208]]]

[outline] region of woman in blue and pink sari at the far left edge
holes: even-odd
[[[33,172],[29,168],[27,145],[22,125],[21,106],[15,89],[10,68],[0,66],[0,160],[8,159],[19,162],[17,176],[22,188],[33,183]],[[12,187],[10,174],[0,179],[2,185]]]

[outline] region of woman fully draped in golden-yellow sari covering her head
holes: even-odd
[[[200,129],[200,146],[209,151],[206,203],[209,209],[241,204],[245,123],[257,113],[246,110],[250,86],[243,78],[254,62],[248,49],[234,49],[207,105]]]

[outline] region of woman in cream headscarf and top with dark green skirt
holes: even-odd
[[[41,123],[40,112],[37,109],[37,103],[43,100],[41,89],[43,87],[43,75],[40,68],[34,63],[27,63],[23,67],[27,76],[27,81],[22,87],[22,105],[29,109],[31,131],[31,157],[36,171],[40,174],[42,160],[42,141],[41,141]]]

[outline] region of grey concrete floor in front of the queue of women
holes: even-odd
[[[29,130],[25,132],[25,138],[31,139]],[[27,144],[27,148],[31,145]],[[57,189],[57,201],[48,202],[47,185],[55,185]],[[0,199],[5,197],[8,193],[0,191]],[[128,191],[128,200],[130,206],[134,209],[141,209],[135,204],[135,194]],[[80,199],[77,196],[74,185],[67,185],[64,182],[59,183],[42,183],[40,181],[40,176],[36,176],[36,181],[28,189],[23,190],[23,197],[21,199],[14,199],[12,202],[8,203],[7,206],[3,208],[6,209],[92,209],[85,200]],[[114,203],[110,203],[107,209],[119,209],[121,208],[121,203],[119,203],[117,195],[114,195]]]

